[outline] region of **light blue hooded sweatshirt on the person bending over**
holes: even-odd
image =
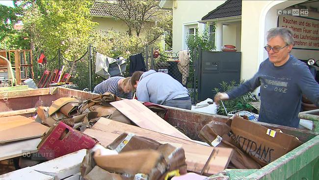
[[[187,97],[188,90],[170,75],[155,70],[144,72],[136,87],[139,101],[163,104],[165,101]]]

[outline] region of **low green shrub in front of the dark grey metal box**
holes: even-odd
[[[236,86],[239,86],[242,83],[244,83],[243,80],[240,81],[239,84],[236,84],[235,81],[231,81],[230,83],[222,81],[220,83],[221,90],[218,88],[214,88],[213,91],[215,93],[226,92],[226,91],[232,90],[233,88],[235,88]],[[255,102],[255,101],[257,101],[256,96],[254,96],[254,94],[252,92],[247,92],[244,95],[237,97],[235,99],[223,101],[223,103],[227,109],[227,112],[232,112],[232,111],[252,112],[252,111],[254,111],[254,108],[248,103]],[[227,116],[223,106],[218,107],[217,114]]]

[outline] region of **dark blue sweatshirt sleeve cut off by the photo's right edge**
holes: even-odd
[[[309,71],[308,67],[300,68],[298,72],[300,73],[298,81],[300,90],[311,102],[319,107],[319,84]]]

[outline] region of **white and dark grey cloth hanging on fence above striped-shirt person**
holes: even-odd
[[[109,58],[103,54],[96,53],[95,74],[108,79],[113,76],[123,76],[126,71],[126,60]]]

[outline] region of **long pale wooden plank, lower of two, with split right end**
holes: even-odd
[[[84,133],[97,138],[105,146],[112,143],[120,134],[126,132],[148,137],[160,143],[166,142],[176,145],[177,147],[182,147],[185,150],[187,170],[196,173],[201,172],[214,149],[213,147],[204,146],[192,141],[187,141],[185,139],[161,134],[114,120],[108,120],[106,118],[98,120],[93,125],[92,129],[86,129]],[[233,153],[233,150],[228,148],[215,148],[215,150],[217,154],[213,156],[205,171],[205,173],[209,175],[224,170],[228,166],[230,157]]]

